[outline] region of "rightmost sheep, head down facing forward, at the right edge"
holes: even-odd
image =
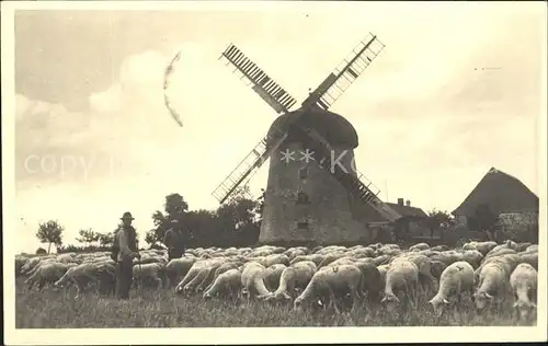
[[[515,297],[514,308],[520,321],[528,322],[537,308],[537,270],[527,263],[520,264],[510,276],[510,287]]]

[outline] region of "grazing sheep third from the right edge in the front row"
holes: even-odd
[[[473,267],[468,262],[460,261],[445,268],[439,278],[439,290],[429,302],[437,315],[441,315],[444,305],[449,304],[449,295],[455,293],[460,303],[464,291],[470,292],[470,297],[473,295]]]

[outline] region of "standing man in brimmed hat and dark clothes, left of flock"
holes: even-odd
[[[116,296],[118,299],[129,299],[133,281],[133,258],[140,258],[137,249],[137,231],[132,226],[134,217],[129,211],[121,218],[122,224],[114,238],[113,257],[116,258]]]

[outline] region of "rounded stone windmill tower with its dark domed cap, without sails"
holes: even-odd
[[[278,117],[269,132],[277,129],[286,117],[298,116],[297,112],[302,111]],[[333,148],[333,157],[341,158],[339,162],[355,175],[351,168],[357,134],[344,117],[317,108],[302,115],[299,125],[313,128],[324,137]],[[270,157],[260,242],[341,244],[367,241],[364,224],[354,217],[349,192],[318,166],[316,152],[298,130],[288,129],[288,138]],[[306,155],[307,149],[311,159]],[[293,159],[284,153],[293,153]]]

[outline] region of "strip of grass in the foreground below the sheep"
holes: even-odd
[[[75,291],[41,293],[30,291],[23,279],[16,280],[16,328],[73,327],[227,327],[227,326],[459,326],[514,325],[512,301],[502,313],[478,316],[471,301],[458,311],[437,318],[420,298],[420,307],[397,315],[370,311],[364,307],[355,313],[335,314],[310,310],[294,312],[290,304],[235,302],[222,299],[204,301],[201,296],[175,297],[172,290],[153,292],[132,290],[132,299],[118,301],[88,293],[75,299]]]

